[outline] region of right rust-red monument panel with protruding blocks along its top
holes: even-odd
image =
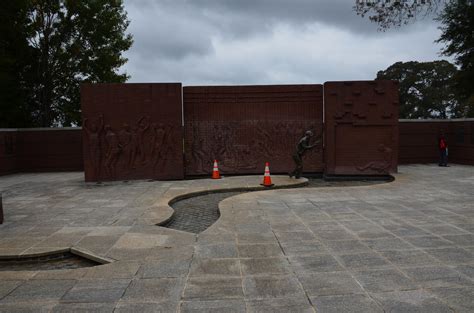
[[[327,82],[327,175],[382,175],[397,171],[398,84]]]

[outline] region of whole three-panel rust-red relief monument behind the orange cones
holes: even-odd
[[[325,162],[333,174],[336,168],[342,169],[340,174],[347,170],[350,174],[396,170],[398,137],[393,134],[397,132],[398,102],[395,89],[388,83],[331,83],[324,93],[328,103],[325,150],[330,151],[326,152]],[[322,88],[318,86],[277,86],[271,92],[265,91],[265,98],[261,87],[252,87],[253,91],[237,88],[238,92],[230,87],[225,92],[193,87],[188,96],[185,89],[183,136],[180,85],[130,85],[113,85],[103,92],[99,86],[85,92],[84,156],[88,181],[182,178],[174,173],[183,175],[183,169],[187,175],[204,175],[211,172],[214,159],[223,173],[261,173],[267,161],[272,172],[286,173],[294,164],[291,154],[301,135],[308,129],[322,133]],[[275,106],[268,105],[273,101]],[[121,111],[113,111],[116,106]],[[266,110],[258,109],[263,107]],[[145,115],[144,111],[152,113]],[[357,153],[360,148],[351,147],[354,130],[362,130],[359,136],[368,138],[370,151],[366,156]],[[340,154],[335,151],[341,145],[349,146],[343,153],[351,152],[336,164]],[[322,172],[325,168],[322,142],[318,146],[305,155],[306,171]]]

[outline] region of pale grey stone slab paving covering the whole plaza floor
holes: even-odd
[[[0,177],[0,256],[74,247],[114,262],[2,271],[0,312],[474,311],[474,167],[401,166],[392,183],[245,193],[223,200],[199,235],[154,224],[175,197],[256,177],[81,179]]]

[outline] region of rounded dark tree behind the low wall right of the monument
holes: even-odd
[[[399,82],[400,118],[454,118],[463,114],[453,88],[456,73],[448,61],[397,62],[376,79]]]

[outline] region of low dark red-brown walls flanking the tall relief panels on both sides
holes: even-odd
[[[441,131],[449,162],[474,165],[474,119],[400,120],[399,163],[437,163]],[[0,129],[0,175],[83,169],[80,127]]]

